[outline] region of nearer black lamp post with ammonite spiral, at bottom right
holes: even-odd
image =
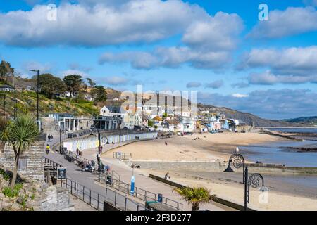
[[[264,179],[261,174],[251,174],[248,178],[248,167],[244,170],[246,182],[244,183],[244,211],[248,210],[248,203],[250,203],[250,186],[252,188],[259,188],[261,191],[268,191],[268,188],[264,186]]]

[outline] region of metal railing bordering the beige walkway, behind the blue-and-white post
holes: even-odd
[[[112,188],[123,192],[127,195],[131,195],[131,185],[127,184],[123,181],[120,181],[118,179],[114,179],[112,177],[111,182],[107,182],[107,176],[104,177],[104,179],[99,180],[101,183],[106,184],[106,186],[111,186]],[[138,198],[140,200],[143,200],[144,202],[147,201],[158,201],[159,200],[159,194],[153,193],[151,191],[147,191],[143,188],[135,187],[135,192],[133,195],[131,195],[135,198]],[[169,207],[173,207],[175,210],[182,210],[183,204],[179,203],[178,201],[172,200],[170,198],[166,198],[162,196],[162,204],[167,205]]]

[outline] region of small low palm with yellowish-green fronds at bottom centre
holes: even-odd
[[[211,195],[210,191],[204,187],[187,186],[175,188],[173,191],[179,193],[188,204],[192,204],[192,211],[198,211],[200,203],[210,203],[216,200],[216,195]]]

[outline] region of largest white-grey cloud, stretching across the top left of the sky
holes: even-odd
[[[43,5],[0,13],[0,41],[14,46],[151,42],[180,34],[208,16],[203,8],[179,0],[134,0],[118,7],[65,3],[58,6],[56,21],[47,20],[47,13]]]

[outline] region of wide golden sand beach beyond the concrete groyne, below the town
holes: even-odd
[[[111,150],[104,156],[111,158],[113,152],[120,151],[132,153],[133,160],[219,160],[223,162],[228,160],[228,155],[233,153],[237,146],[281,140],[283,139],[277,136],[255,132],[194,134],[172,136],[170,139],[138,141]]]

